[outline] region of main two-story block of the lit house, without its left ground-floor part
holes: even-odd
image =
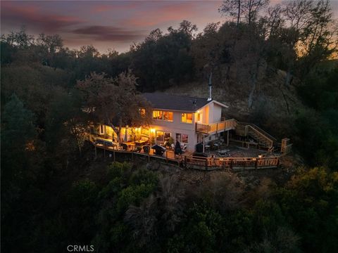
[[[151,133],[161,144],[171,137],[194,151],[196,144],[215,138],[220,132],[211,131],[211,125],[221,122],[222,108],[227,105],[208,98],[193,98],[166,93],[144,93],[153,108]]]

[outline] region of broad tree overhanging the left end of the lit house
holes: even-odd
[[[111,126],[118,141],[123,126],[146,126],[151,123],[151,106],[138,93],[137,78],[123,72],[115,79],[105,74],[92,73],[77,88],[84,93],[84,104],[89,114],[101,124]]]

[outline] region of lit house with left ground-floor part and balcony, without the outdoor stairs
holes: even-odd
[[[188,151],[194,152],[197,143],[211,141],[220,133],[233,129],[232,122],[222,120],[222,109],[227,105],[216,100],[166,93],[143,95],[153,108],[152,124],[135,129],[124,127],[122,135],[125,141],[148,138],[151,143],[159,145],[179,141],[187,146]],[[114,132],[111,127],[100,125],[99,134],[111,138]]]

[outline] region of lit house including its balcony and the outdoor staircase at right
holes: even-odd
[[[230,142],[246,148],[257,148],[272,152],[279,148],[281,153],[290,152],[292,144],[288,138],[282,143],[270,136],[255,124],[238,122],[236,119],[223,119],[222,110],[227,105],[209,98],[170,95],[167,93],[143,93],[152,105],[150,126],[128,127],[121,129],[123,145],[129,150],[144,144],[165,145],[179,141],[189,152],[196,150],[197,143],[203,149],[210,141],[223,135],[225,144]],[[110,126],[99,125],[100,145],[117,145],[117,136]],[[114,144],[115,143],[115,144]]]

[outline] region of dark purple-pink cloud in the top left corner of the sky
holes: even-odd
[[[25,25],[40,32],[58,32],[83,22],[80,18],[69,15],[46,13],[38,6],[8,1],[1,4],[1,20],[8,25]]]

